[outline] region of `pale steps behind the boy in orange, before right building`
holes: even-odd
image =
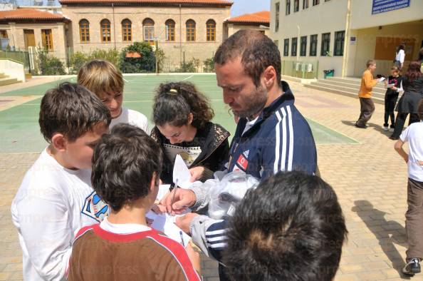
[[[339,77],[328,77],[327,79],[319,79],[316,82],[310,84],[304,84],[307,88],[314,88],[320,91],[327,91],[330,93],[338,93],[343,96],[350,96],[352,98],[358,98],[358,91],[360,90],[360,78],[339,78]],[[372,99],[375,103],[385,103],[385,92],[386,88],[383,83],[377,83],[373,87]]]

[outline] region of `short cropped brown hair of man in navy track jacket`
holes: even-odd
[[[268,66],[275,68],[276,79],[281,81],[281,53],[278,46],[261,32],[241,29],[232,34],[217,49],[214,63],[224,65],[238,57],[256,87],[260,86],[260,76]]]

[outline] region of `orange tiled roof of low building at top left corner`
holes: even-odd
[[[10,11],[0,11],[0,21],[64,21],[67,20],[61,14],[52,14],[48,11],[40,11],[37,9],[15,9]]]

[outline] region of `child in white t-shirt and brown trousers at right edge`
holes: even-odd
[[[395,143],[395,150],[408,165],[408,209],[405,213],[408,249],[407,264],[402,269],[406,275],[419,273],[419,262],[423,259],[423,101],[419,102],[418,114],[420,122],[410,124]],[[402,149],[407,142],[408,154]]]

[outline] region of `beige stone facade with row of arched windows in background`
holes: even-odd
[[[224,21],[230,16],[231,3],[178,2],[141,5],[136,1],[96,4],[95,1],[63,0],[63,15],[71,20],[68,46],[73,51],[90,52],[120,50],[135,41],[149,41],[152,45],[157,41],[166,56],[164,71],[193,58],[199,60],[201,71],[203,61],[214,56],[224,39]]]

